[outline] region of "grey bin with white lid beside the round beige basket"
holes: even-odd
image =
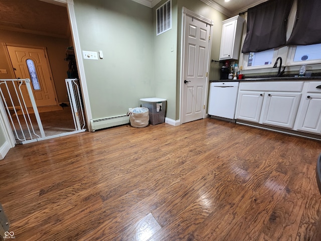
[[[162,98],[142,98],[141,106],[149,110],[149,123],[157,125],[165,122],[165,111],[167,99]]]

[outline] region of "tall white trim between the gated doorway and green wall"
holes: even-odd
[[[77,30],[75,9],[74,9],[74,4],[72,0],[68,1],[67,12],[68,12],[68,18],[69,18],[69,23],[71,28],[71,35],[74,43],[75,56],[77,61],[78,74],[79,74],[81,92],[82,92],[83,103],[84,103],[84,110],[86,115],[86,123],[88,126],[88,131],[91,132],[92,130],[89,123],[90,123],[90,119],[92,119],[92,114],[91,114],[91,108],[90,108],[90,102],[89,102],[89,96],[88,96],[88,88],[87,88],[84,63],[83,63],[82,54],[81,54],[80,40],[79,40],[79,35]]]

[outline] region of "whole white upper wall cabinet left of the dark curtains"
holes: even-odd
[[[220,60],[239,59],[244,21],[235,16],[222,22]]]

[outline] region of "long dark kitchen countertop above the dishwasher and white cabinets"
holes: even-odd
[[[310,81],[310,80],[321,80],[321,76],[311,77],[253,77],[245,79],[220,79],[210,80],[212,82],[246,82],[246,81]]]

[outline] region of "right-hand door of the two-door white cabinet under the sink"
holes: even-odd
[[[266,92],[261,124],[292,129],[301,93]]]

